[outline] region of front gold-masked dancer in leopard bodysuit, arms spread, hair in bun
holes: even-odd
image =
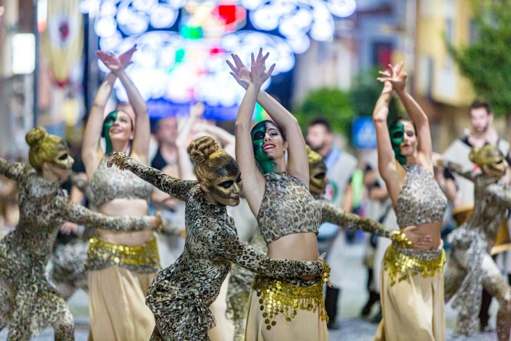
[[[241,244],[234,220],[225,209],[240,201],[241,173],[234,158],[211,137],[194,141],[188,153],[195,162],[197,180],[173,178],[122,153],[115,153],[109,162],[187,204],[184,252],[158,273],[147,295],[147,305],[156,316],[151,340],[209,339],[207,330],[215,322],[208,306],[217,298],[231,263],[267,276],[296,277],[328,271],[322,259],[273,260]]]

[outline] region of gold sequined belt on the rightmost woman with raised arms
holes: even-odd
[[[442,272],[446,263],[446,253],[443,245],[433,250],[415,250],[391,244],[383,258],[383,268],[388,271],[390,285],[405,280],[409,276],[422,274],[424,278],[433,277]]]

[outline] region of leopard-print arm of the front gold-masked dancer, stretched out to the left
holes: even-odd
[[[144,165],[133,158],[124,155],[120,152],[112,154],[107,162],[108,167],[112,165],[118,166],[120,169],[127,169],[136,176],[147,181],[149,184],[157,187],[179,200],[186,200],[190,194],[190,190],[197,185],[195,180],[180,180],[167,175],[155,168]]]

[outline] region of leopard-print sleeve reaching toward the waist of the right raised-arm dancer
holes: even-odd
[[[326,200],[318,200],[321,206],[321,222],[331,222],[346,229],[358,229],[380,237],[392,238],[394,230],[385,228],[377,221],[345,212]]]

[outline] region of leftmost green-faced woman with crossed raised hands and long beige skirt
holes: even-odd
[[[146,104],[124,72],[136,47],[116,58],[98,51],[110,70],[101,84],[85,127],[82,160],[89,186],[91,207],[106,215],[146,215],[152,187],[133,174],[108,169],[113,151],[126,152],[147,163],[149,118]],[[135,112],[103,112],[115,79],[119,78]],[[100,148],[106,140],[106,153]],[[94,226],[87,256],[90,333],[95,340],[147,340],[154,316],[145,305],[145,295],[159,269],[156,238],[151,230],[111,232]]]

